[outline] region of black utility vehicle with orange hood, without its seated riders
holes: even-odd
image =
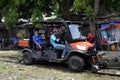
[[[43,42],[46,47],[44,50],[36,50],[32,36],[29,38],[29,47],[22,53],[22,60],[25,64],[31,65],[34,60],[47,60],[49,62],[66,62],[72,71],[82,71],[84,67],[98,69],[98,56],[95,45],[87,42],[87,38],[81,29],[82,22],[78,21],[38,21],[36,24],[43,26],[39,32],[44,35]],[[54,49],[50,44],[51,31],[56,27],[60,30],[61,39],[65,45],[67,54],[60,60],[61,50]],[[34,31],[34,30],[33,30]]]

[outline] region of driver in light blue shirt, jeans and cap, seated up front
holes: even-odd
[[[60,39],[57,37],[58,31],[53,30],[53,34],[50,36],[50,43],[53,45],[55,49],[63,50],[61,55],[61,59],[63,59],[66,55],[65,45],[60,43]]]

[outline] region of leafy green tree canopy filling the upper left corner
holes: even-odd
[[[42,20],[42,15],[51,15],[54,2],[52,0],[1,0],[0,19],[5,18],[7,28],[15,26],[20,18]]]

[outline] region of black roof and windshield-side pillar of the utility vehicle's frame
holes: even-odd
[[[47,27],[64,26],[67,42],[71,43],[71,42],[73,42],[73,40],[72,40],[72,36],[71,36],[68,25],[69,24],[83,25],[83,22],[79,22],[79,21],[36,21],[35,24],[45,25],[44,27],[46,27],[46,29],[47,29]]]

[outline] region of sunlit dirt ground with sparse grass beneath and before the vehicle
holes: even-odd
[[[31,66],[18,63],[20,51],[0,51],[0,80],[120,80],[120,77],[90,72],[74,73],[67,64],[41,62]]]

